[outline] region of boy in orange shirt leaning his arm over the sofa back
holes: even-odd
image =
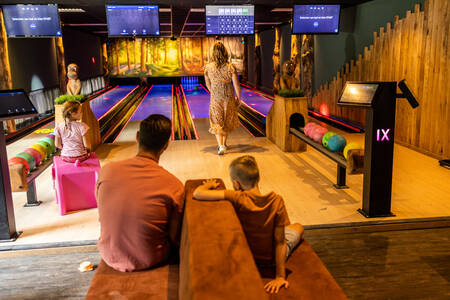
[[[233,204],[241,222],[247,242],[256,264],[275,262],[276,278],[264,289],[278,293],[289,286],[286,280],[285,262],[292,250],[300,243],[303,226],[290,224],[281,196],[274,192],[262,195],[259,191],[259,170],[253,156],[245,155],[231,162],[233,190],[215,190],[218,183],[207,180],[194,191],[197,200],[228,200]]]

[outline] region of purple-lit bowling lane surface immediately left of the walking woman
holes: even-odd
[[[197,89],[195,88],[197,87]],[[183,85],[186,101],[193,119],[209,118],[209,93],[201,85]]]

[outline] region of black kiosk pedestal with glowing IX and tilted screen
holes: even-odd
[[[405,81],[345,83],[339,105],[366,109],[363,204],[358,211],[367,218],[394,216],[391,212],[392,165],[396,98],[407,98],[417,107]]]

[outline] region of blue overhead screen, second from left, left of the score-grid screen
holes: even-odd
[[[159,33],[158,5],[106,5],[109,36],[152,36]]]

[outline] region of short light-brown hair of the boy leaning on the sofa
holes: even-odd
[[[258,164],[253,156],[236,158],[231,162],[229,170],[231,178],[246,188],[253,188],[259,182]]]

